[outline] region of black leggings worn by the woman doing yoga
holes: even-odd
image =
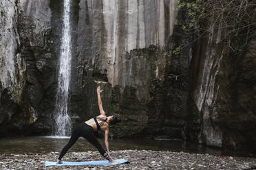
[[[70,149],[70,147],[72,147],[72,145],[74,145],[74,143],[76,143],[77,139],[79,137],[81,137],[81,136],[86,138],[87,141],[89,141],[89,143],[92,143],[92,145],[94,145],[94,147],[96,147],[98,149],[98,151],[100,151],[100,154],[104,158],[109,160],[108,154],[103,149],[103,147],[100,145],[100,143],[98,142],[96,136],[94,135],[94,129],[92,128],[92,126],[87,125],[84,122],[74,128],[74,131],[72,132],[70,141],[62,149],[61,154],[58,157],[58,160],[61,160],[61,158],[63,158],[63,156],[67,153],[67,150]]]

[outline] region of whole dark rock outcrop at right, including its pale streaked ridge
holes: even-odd
[[[230,51],[217,34],[199,42],[192,62],[193,111],[188,126],[190,132],[198,131],[189,135],[198,136],[200,143],[255,149],[255,38],[250,37],[242,55]]]

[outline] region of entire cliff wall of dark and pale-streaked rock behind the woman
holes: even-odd
[[[0,135],[51,134],[63,1],[0,2]],[[122,121],[111,136],[189,138],[255,148],[255,35],[242,55],[213,31],[196,44],[175,0],[74,0],[73,125],[98,112]],[[211,25],[211,19],[209,19]]]

